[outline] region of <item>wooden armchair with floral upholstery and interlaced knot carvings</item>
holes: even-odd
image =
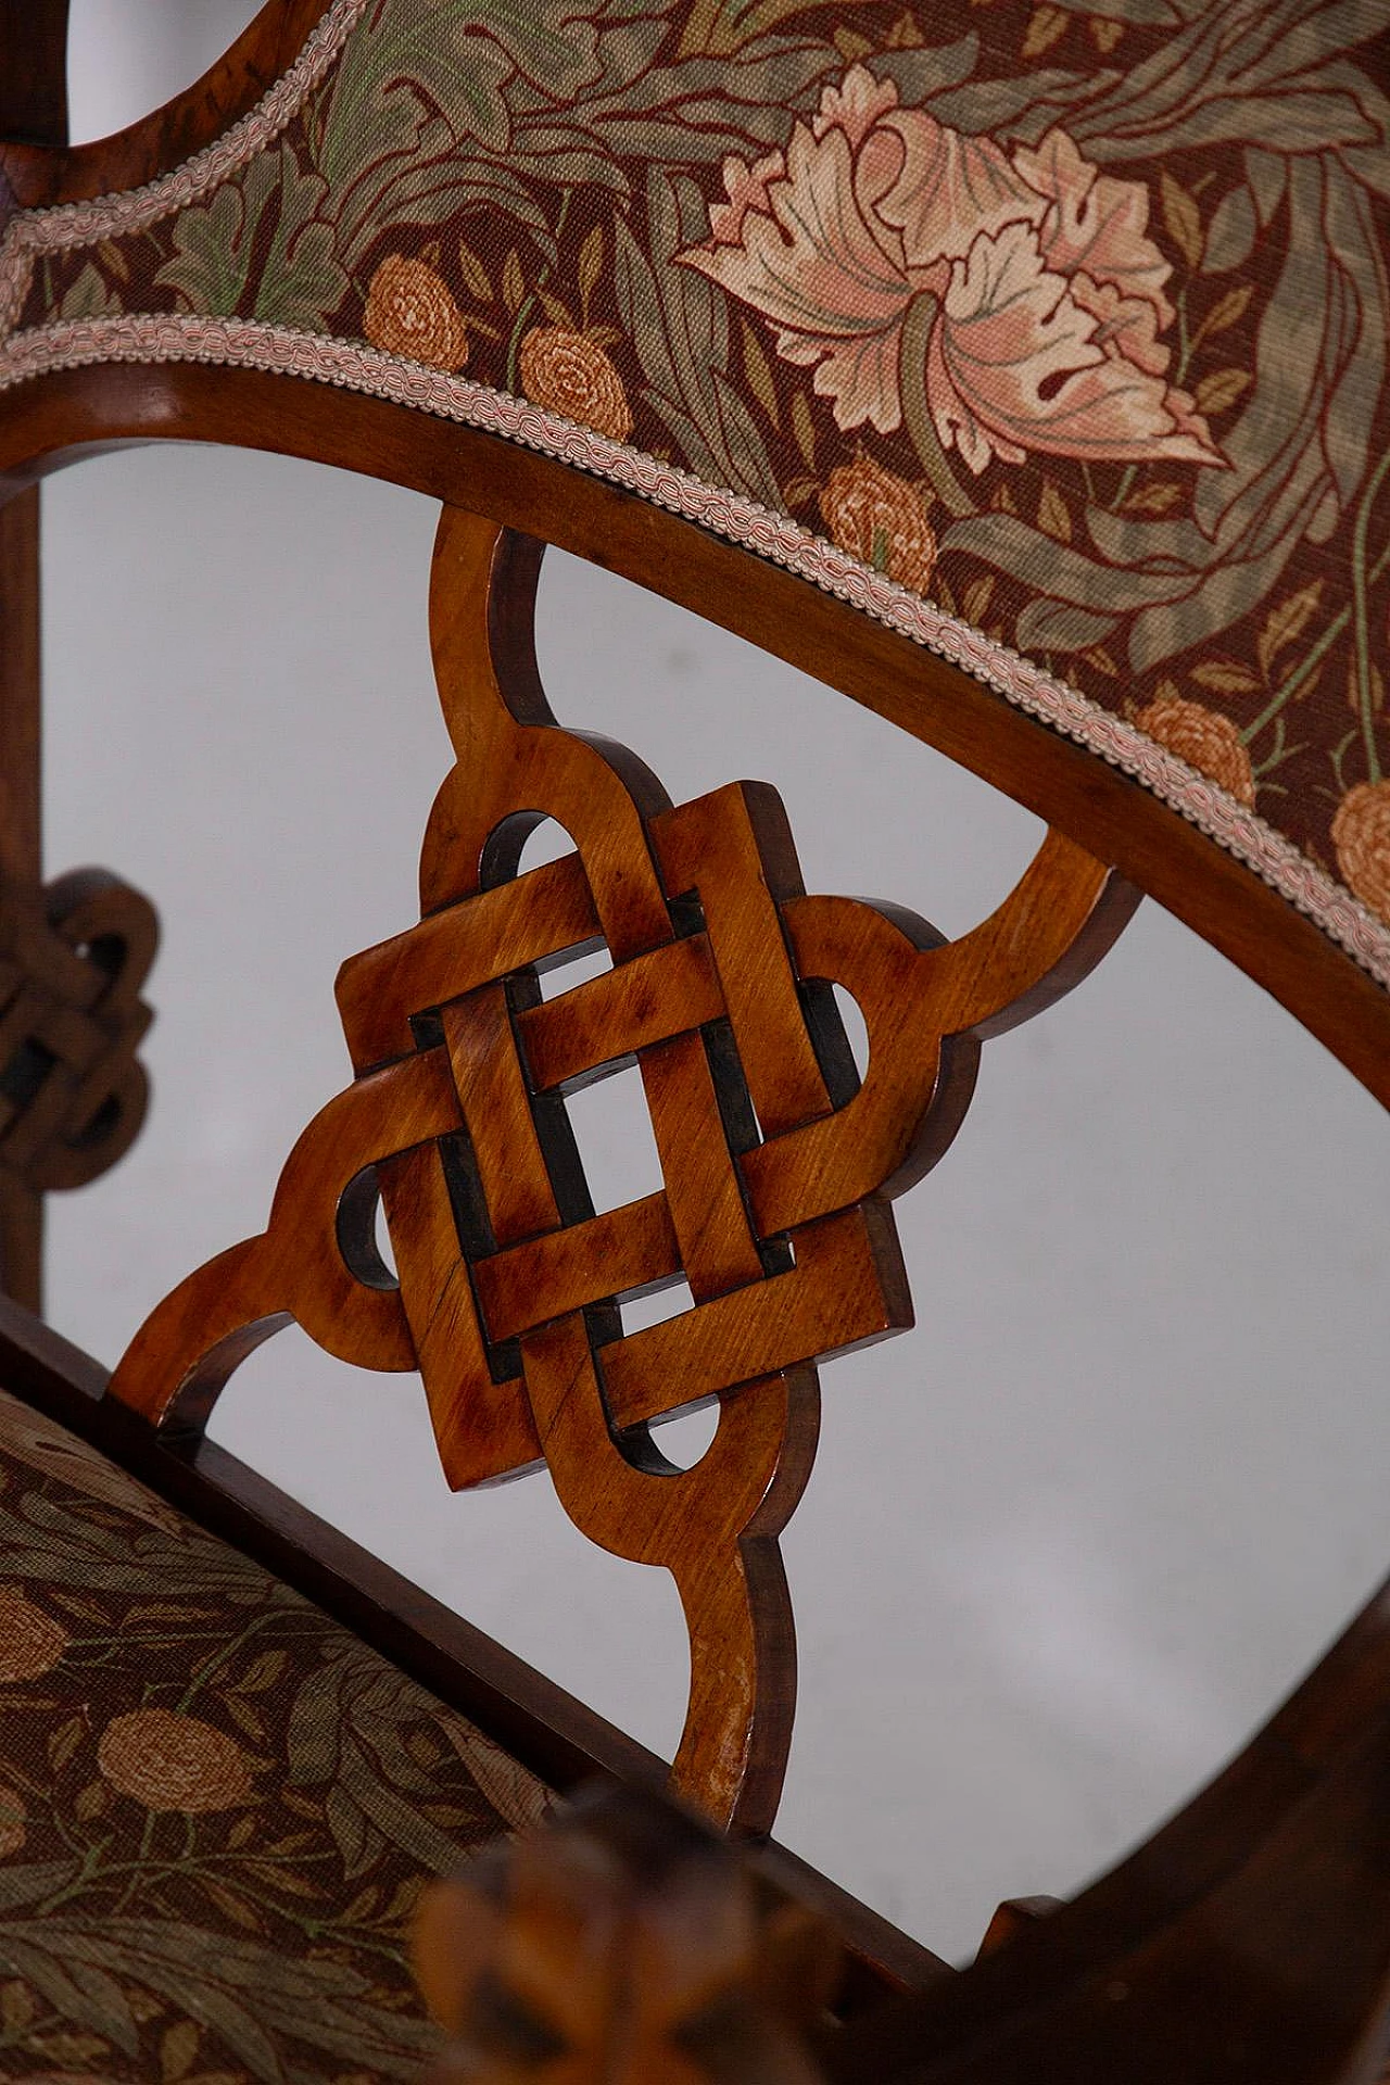
[[[675,1578],[671,1781],[756,1843],[756,1887],[642,1810],[598,1854],[563,1824],[563,1881],[525,1854],[517,1902],[563,1997],[584,1862],[609,1935],[629,1889],[661,1929],[669,1883],[756,2004],[621,2075],[1371,2079],[1384,1601],[1148,1845],[1004,1910],[961,1974],[765,1835],[817,1366],[911,1324],[892,1199],[959,1130],[982,1045],[1146,890],[1390,1099],[1377,0],[986,0],[969,25],[936,0],[273,0],[79,148],[63,29],[63,0],[0,0],[0,2075],[408,2077],[436,2045],[404,1954],[425,1879],[594,1772],[663,1779],[204,1439],[294,1320],[419,1370],[454,1489],[544,1464],[586,1535]],[[267,1228],[106,1378],[33,1316],[42,1195],[140,1128],[154,919],[113,876],[42,884],[35,482],[142,440],[442,502],[456,765],[421,815],[421,917],[342,951],[352,1082]],[[671,805],[636,753],[561,730],[546,542],[1038,811],[1017,888],[944,942],[806,894],[767,782]],[[523,872],[544,817],[575,851]],[[565,1097],[631,1063],[663,1191],[596,1216]],[[688,1311],[623,1330],[677,1280]],[[677,1470],[652,1428],[711,1401]],[[506,1887],[429,1927],[446,1956],[496,1943]],[[819,1939],[781,2004],[796,1974],[748,1910],[773,1899],[844,1949],[834,2012]],[[642,1960],[675,2018],[667,1956]],[[456,2075],[619,2075],[611,2050],[565,2068],[563,2031],[506,2047]]]

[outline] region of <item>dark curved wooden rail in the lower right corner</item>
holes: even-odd
[[[1390,1585],[1186,1810],[831,2077],[1369,2085],[1388,2004]]]

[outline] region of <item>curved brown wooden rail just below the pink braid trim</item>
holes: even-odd
[[[1115,863],[1390,1105],[1390,992],[1321,928],[1138,782],[804,580],[548,457],[263,371],[106,367],[38,379],[6,404],[0,475],[142,440],[269,448],[415,486],[623,571],[750,638]]]

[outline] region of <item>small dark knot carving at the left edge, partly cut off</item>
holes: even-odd
[[[85,1186],[129,1149],[148,1082],[154,909],[102,869],[0,890],[0,1174]]]

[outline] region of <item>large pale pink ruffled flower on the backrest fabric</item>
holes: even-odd
[[[909,394],[971,471],[1027,452],[1225,461],[1165,382],[1171,269],[1148,190],[1098,173],[1065,131],[1007,154],[854,65],[786,152],[729,158],[723,177],[711,240],[679,259],[771,319],[840,427],[892,434]],[[913,306],[925,327],[904,338]],[[911,411],[909,427],[923,446]]]

